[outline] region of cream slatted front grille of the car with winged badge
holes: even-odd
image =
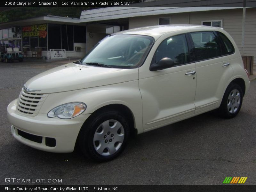
[[[44,100],[48,94],[26,92],[22,88],[18,100],[17,110],[20,113],[36,116],[44,103]]]

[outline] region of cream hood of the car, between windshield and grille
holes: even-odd
[[[25,87],[36,93],[54,93],[138,80],[138,68],[105,68],[68,63],[40,73]]]

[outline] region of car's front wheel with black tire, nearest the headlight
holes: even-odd
[[[106,128],[103,130],[103,125],[102,123],[107,122],[109,120],[108,125]],[[117,132],[114,132],[113,130],[113,136],[112,132],[109,133],[108,130],[111,128],[110,125],[113,125],[115,127],[113,122],[118,122],[122,125],[123,129],[121,132],[121,127],[118,129]],[[116,123],[117,125],[117,123]],[[101,126],[101,127],[100,127]],[[116,126],[117,127],[117,126]],[[102,131],[101,131],[102,129]],[[96,135],[96,131],[99,133],[100,140],[95,141],[94,136]],[[124,134],[124,139],[121,142],[115,142],[115,137],[116,140],[118,139],[118,135]],[[80,130],[80,133],[78,135],[78,142],[81,151],[84,153],[85,156],[88,158],[98,161],[98,162],[106,162],[109,160],[112,160],[119,156],[122,151],[124,150],[127,141],[130,136],[130,127],[127,122],[127,119],[123,114],[121,114],[119,111],[113,110],[113,109],[103,109],[95,114],[92,114],[92,116],[89,117],[88,121],[85,122],[83,127]],[[102,138],[101,138],[102,137]],[[105,138],[106,137],[106,138]],[[101,140],[102,139],[102,140]],[[107,142],[105,142],[107,140]],[[98,146],[97,146],[98,145]],[[102,145],[102,147],[101,147]],[[105,147],[107,145],[107,147]],[[112,148],[112,150],[116,150],[114,153],[110,154],[109,148]],[[98,153],[96,151],[96,148],[99,147],[101,150],[104,148],[102,154]],[[114,147],[114,148],[113,148]],[[109,154],[107,154],[109,153]]]

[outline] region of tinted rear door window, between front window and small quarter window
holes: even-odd
[[[194,43],[196,60],[206,60],[221,56],[221,47],[212,31],[190,33]]]

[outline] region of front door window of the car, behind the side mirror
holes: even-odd
[[[174,66],[190,62],[185,34],[169,37],[158,46],[155,53],[156,63],[164,57],[171,58]]]

